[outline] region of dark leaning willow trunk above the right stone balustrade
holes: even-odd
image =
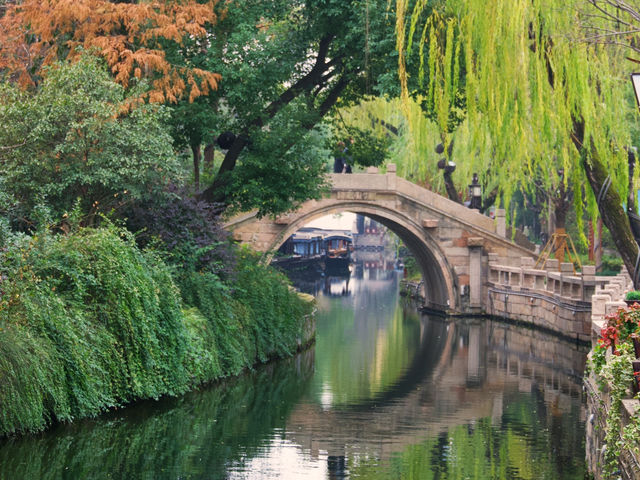
[[[602,221],[611,232],[616,249],[618,253],[620,253],[622,261],[633,279],[634,285],[638,288],[639,284],[636,278],[638,244],[631,232],[629,218],[622,208],[622,199],[620,198],[618,190],[614,185],[611,185],[606,192],[603,191],[603,187],[606,187],[610,178],[592,138],[589,138],[591,145],[590,155],[587,156],[584,151],[584,122],[582,119],[573,119],[572,140],[582,155],[582,165],[589,180],[589,185],[591,185],[591,189],[593,190],[593,194],[596,198],[600,198],[598,211],[600,212]]]

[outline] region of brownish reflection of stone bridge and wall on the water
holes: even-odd
[[[421,365],[421,375],[420,369],[409,369],[389,391],[358,405],[327,409],[301,403],[287,422],[288,440],[314,458],[328,455],[330,468],[336,468],[344,463],[340,458],[353,454],[388,459],[482,418],[499,427],[505,406],[519,392],[536,392],[551,417],[579,403],[585,352],[508,324],[427,322],[417,357],[432,363]]]

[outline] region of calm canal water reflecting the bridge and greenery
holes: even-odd
[[[377,264],[301,285],[309,351],[0,442],[0,479],[583,479],[586,349],[421,315]]]

